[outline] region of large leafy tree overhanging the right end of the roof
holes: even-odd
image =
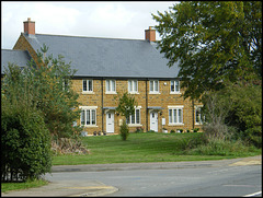
[[[261,1],[184,1],[152,18],[168,66],[179,63],[184,97],[262,79]]]

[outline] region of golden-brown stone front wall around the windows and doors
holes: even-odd
[[[72,80],[72,88],[79,94],[79,102],[81,106],[95,107],[96,120],[95,126],[84,126],[84,131],[88,135],[92,135],[94,131],[107,131],[107,113],[114,115],[114,133],[119,133],[119,125],[124,117],[116,114],[114,107],[118,105],[118,94],[122,95],[128,92],[128,79],[115,80],[116,92],[106,93],[106,80],[92,80],[93,91],[85,93],[82,90],[82,79]],[[162,132],[163,128],[170,132],[173,130],[183,129],[183,131],[192,130],[193,128],[201,128],[195,123],[195,106],[192,101],[184,100],[182,96],[183,90],[180,93],[171,93],[171,81],[159,80],[159,93],[149,92],[149,81],[138,80],[138,93],[130,93],[137,102],[139,107],[139,124],[129,124],[130,131],[136,131],[141,128],[145,132],[151,129],[151,113],[157,113],[158,116],[158,131]],[[194,106],[193,106],[194,105]],[[157,109],[155,107],[158,107]],[[169,108],[181,107],[182,108],[182,123],[183,124],[170,124],[169,123]],[[164,119],[164,120],[163,120]],[[164,123],[163,123],[164,121]],[[77,120],[80,125],[81,120]]]

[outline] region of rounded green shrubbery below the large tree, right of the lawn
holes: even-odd
[[[237,82],[203,96],[204,131],[231,137],[262,148],[262,88]]]

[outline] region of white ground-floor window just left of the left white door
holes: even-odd
[[[80,124],[82,126],[96,126],[96,107],[81,106]]]

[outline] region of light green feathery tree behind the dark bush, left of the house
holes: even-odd
[[[10,85],[14,78],[22,79],[15,97],[25,97],[31,106],[35,106],[43,114],[46,127],[54,138],[69,138],[81,130],[72,126],[79,119],[80,112],[73,110],[79,106],[78,94],[71,89],[70,79],[75,74],[70,62],[66,63],[62,56],[54,58],[46,56],[48,47],[45,45],[37,51],[38,62],[31,60],[28,66],[18,70],[9,77],[5,71],[4,94],[11,95]],[[9,68],[9,70],[12,68]]]

